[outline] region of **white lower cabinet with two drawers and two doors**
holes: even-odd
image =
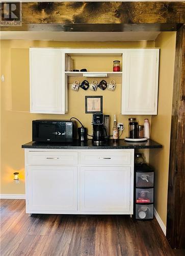
[[[133,214],[134,150],[28,148],[25,172],[29,214]]]

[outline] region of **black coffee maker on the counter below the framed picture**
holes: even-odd
[[[107,136],[107,130],[104,126],[104,115],[102,113],[94,113],[92,117],[93,124],[93,143],[101,144]]]

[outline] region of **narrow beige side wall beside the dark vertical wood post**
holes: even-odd
[[[150,150],[149,162],[155,169],[155,209],[166,225],[168,167],[172,113],[173,75],[176,32],[163,32],[155,40],[160,47],[158,112],[151,119],[151,139],[161,143],[161,150]]]

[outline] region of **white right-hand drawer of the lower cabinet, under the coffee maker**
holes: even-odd
[[[131,164],[131,152],[115,152],[114,151],[96,151],[96,152],[80,152],[81,164]]]

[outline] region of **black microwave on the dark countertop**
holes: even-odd
[[[72,142],[75,121],[33,120],[32,140],[37,142]]]

